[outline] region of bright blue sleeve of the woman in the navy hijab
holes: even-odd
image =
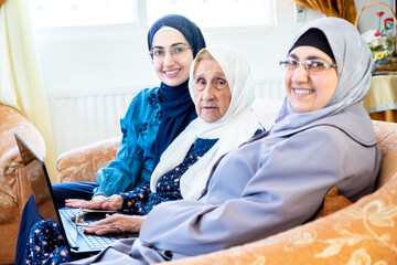
[[[153,145],[161,119],[157,91],[158,87],[141,91],[129,105],[120,120],[122,139],[117,158],[97,172],[99,187],[94,189],[94,197],[133,190],[150,180]]]

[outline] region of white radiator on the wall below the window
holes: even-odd
[[[281,99],[282,80],[257,81],[256,97]],[[139,87],[110,87],[47,93],[56,153],[119,136],[124,117]]]

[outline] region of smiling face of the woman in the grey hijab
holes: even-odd
[[[305,60],[321,61],[333,64],[326,53],[313,46],[298,46],[291,51],[289,57],[304,62]],[[285,85],[288,100],[297,113],[319,110],[326,106],[337,86],[336,68],[309,74],[303,65],[296,70],[286,70]]]

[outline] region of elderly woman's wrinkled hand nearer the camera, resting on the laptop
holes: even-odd
[[[84,227],[84,231],[86,233],[90,234],[109,234],[109,233],[120,233],[119,230],[121,230],[124,233],[126,232],[139,232],[142,223],[144,221],[144,216],[141,215],[126,215],[126,214],[106,214],[106,219],[103,219],[98,222],[93,223],[93,225],[98,225],[101,227],[93,227],[87,226]],[[112,227],[106,227],[106,226],[112,226]],[[118,229],[116,229],[118,227]]]

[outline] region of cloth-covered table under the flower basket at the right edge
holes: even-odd
[[[372,119],[397,123],[397,75],[373,76],[362,104]]]

